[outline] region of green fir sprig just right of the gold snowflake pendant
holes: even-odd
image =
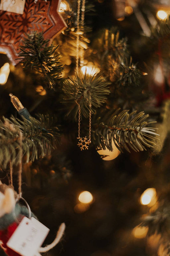
[[[147,127],[148,115],[144,112],[136,111],[128,113],[128,110],[120,109],[111,113],[105,113],[102,118],[98,118],[97,124],[93,125],[92,140],[99,148],[113,151],[112,141],[115,146],[123,152],[126,149],[130,152],[129,148],[134,151],[146,150],[145,147],[153,147],[155,145],[155,130]]]

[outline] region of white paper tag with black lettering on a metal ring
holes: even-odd
[[[48,235],[49,228],[35,218],[24,217],[7,242],[7,246],[22,256],[35,256]]]

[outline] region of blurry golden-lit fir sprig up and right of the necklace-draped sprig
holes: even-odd
[[[94,57],[97,57],[101,70],[110,76],[114,85],[139,86],[141,72],[129,57],[127,38],[120,38],[116,28],[104,29],[94,43],[93,47],[97,50]]]

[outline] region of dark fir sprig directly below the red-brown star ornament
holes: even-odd
[[[42,33],[34,32],[26,35],[23,46],[20,47],[21,63],[24,68],[34,69],[40,73],[48,82],[48,87],[52,89],[57,80],[61,78],[63,65],[59,61],[59,54],[56,52],[58,46],[49,44],[49,40],[44,40]]]

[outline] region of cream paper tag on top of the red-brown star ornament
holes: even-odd
[[[26,0],[1,0],[0,10],[23,14]]]

